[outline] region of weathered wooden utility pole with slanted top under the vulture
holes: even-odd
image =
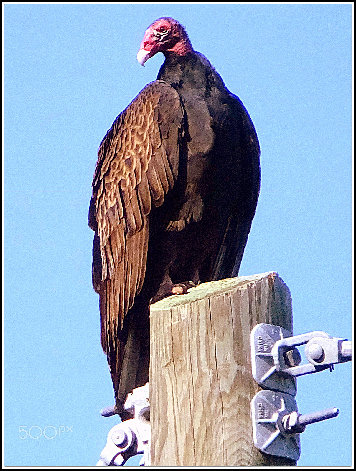
[[[151,466],[296,466],[253,445],[250,333],[292,329],[275,272],[204,283],[150,309]]]

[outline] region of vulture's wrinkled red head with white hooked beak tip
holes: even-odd
[[[144,65],[157,52],[163,52],[165,56],[169,54],[184,56],[192,51],[188,34],[182,24],[173,18],[163,17],[150,24],[145,31],[137,60]]]

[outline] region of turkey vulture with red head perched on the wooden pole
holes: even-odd
[[[240,99],[173,18],[153,22],[137,59],[157,80],[103,138],[92,184],[92,279],[121,418],[148,381],[149,304],[237,276],[260,187],[259,144]]]

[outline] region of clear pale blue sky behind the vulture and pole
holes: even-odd
[[[6,4],[7,466],[91,466],[117,422],[99,414],[114,401],[87,211],[101,139],[163,62],[136,61],[160,16],[186,27],[256,126],[262,185],[240,275],[279,273],[295,334],[351,340],[350,4]],[[340,409],[306,428],[298,466],[350,466],[351,362],[300,378],[297,402]],[[19,426],[73,428],[20,439]]]

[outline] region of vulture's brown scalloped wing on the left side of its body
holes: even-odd
[[[116,118],[99,147],[89,225],[99,239],[93,285],[100,293],[101,341],[108,358],[114,349],[122,350],[117,332],[142,288],[149,212],[163,203],[177,176],[182,120],[177,92],[154,81]],[[110,362],[113,381],[114,376],[119,381],[119,357],[117,351],[116,368]]]

